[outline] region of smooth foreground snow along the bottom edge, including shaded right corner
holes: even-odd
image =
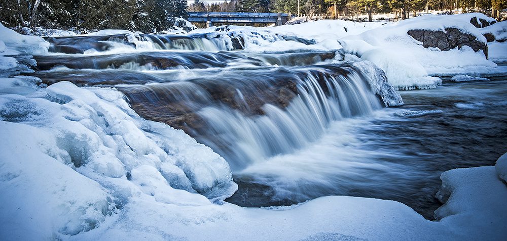
[[[494,167],[455,169],[442,175],[446,204],[428,221],[394,201],[323,197],[266,210],[222,206],[174,207],[133,198],[110,226],[69,240],[504,240],[507,186]]]

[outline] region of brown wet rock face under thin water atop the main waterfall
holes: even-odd
[[[347,75],[347,67],[327,66],[328,72],[269,70],[263,76],[258,72],[243,70],[241,75],[231,73],[228,76],[208,76],[206,79],[191,79],[192,88],[202,90],[202,97],[192,102],[182,100],[180,93],[167,84],[151,85],[150,88],[132,89],[121,87],[131,107],[145,119],[164,122],[187,133],[203,128],[198,112],[207,106],[227,106],[243,115],[264,115],[266,104],[286,108],[298,94],[298,84],[307,76],[316,78],[318,84],[329,94],[325,78],[332,75]],[[235,78],[233,76],[236,76]],[[240,79],[243,78],[243,79]],[[255,81],[256,78],[262,79]],[[232,81],[223,81],[232,79]],[[200,100],[199,100],[200,99]]]

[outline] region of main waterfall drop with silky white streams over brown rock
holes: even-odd
[[[185,129],[233,170],[292,153],[318,139],[332,121],[382,107],[350,66],[277,69],[267,74],[271,78],[258,72],[118,88],[142,116]]]

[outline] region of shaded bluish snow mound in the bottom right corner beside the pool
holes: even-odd
[[[499,169],[505,169],[504,157],[495,167],[453,169],[442,174],[442,189],[437,197],[445,204],[435,211],[441,219],[439,224],[459,230],[468,240],[507,237],[507,185],[497,174]]]

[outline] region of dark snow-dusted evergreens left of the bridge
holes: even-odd
[[[0,21],[10,27],[63,30],[127,29],[158,32],[186,18],[186,0],[0,0]]]

